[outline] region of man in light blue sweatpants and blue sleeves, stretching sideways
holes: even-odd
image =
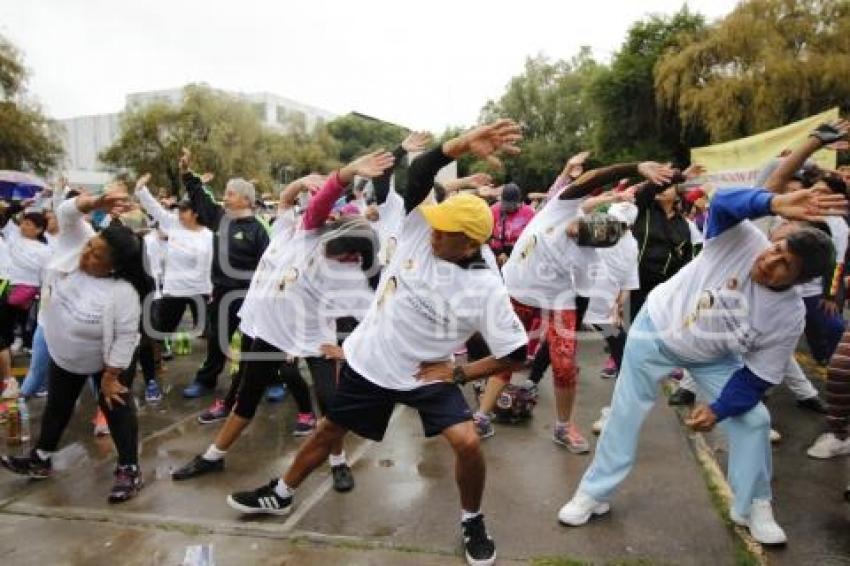
[[[773,175],[790,178],[806,157],[848,130],[845,121],[818,127]],[[846,213],[844,196],[816,189],[715,193],[703,251],[649,294],[632,323],[608,422],[575,495],[558,513],[562,523],[579,526],[608,512],[634,464],[659,381],[682,367],[715,399],[698,405],[686,423],[697,431],[722,423],[729,438],[731,519],[762,544],[785,542],[771,508],[770,414],[761,399],[782,379],[803,332],[805,308],[795,285],[824,273],[834,250],[829,236],[810,227],[769,241],[750,219],[819,221]]]

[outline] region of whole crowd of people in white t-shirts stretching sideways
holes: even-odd
[[[33,449],[0,463],[48,478],[88,382],[96,430],[111,435],[118,454],[109,501],[136,496],[143,478],[133,379],[140,366],[146,402],[162,398],[158,359],[188,311],[206,353],[182,395],[214,393],[234,337],[238,368],[226,396],[198,419],[222,421],[215,440],[173,480],[223,471],[263,396],[279,398],[285,387],[297,405],[294,434],[306,439],[279,478],[227,497],[241,513],[284,515],[326,461],[334,488],[353,489],[345,437],[380,441],[396,405],[406,405],[425,436],[441,435],[453,450],[465,555],[491,564],[481,442],[494,436],[505,401],[530,412],[551,367],[552,440],[571,453],[591,451],[575,407],[579,335],[592,329],[610,356],[601,377],[615,383],[560,522],[580,526],[609,510],[668,378],[678,382],[670,404],[695,405],[688,426],[720,425],[728,435],[733,521],[759,542],[784,543],[772,514],[776,433],[766,393],[784,382],[825,419],[811,457],[850,454],[842,317],[850,171],[809,161],[822,147],[845,147],[848,131],[842,120],[823,124],[744,188],[698,186],[705,171],[697,164],[591,168],[586,152],[545,192],[494,187],[484,174],[437,180],[462,156],[518,153],[521,127],[510,120],[436,145],[413,133],[392,152],[290,183],[271,211],[242,178],[228,180],[216,201],[213,175],[193,171],[188,149],[178,163],[179,198],[155,196],[143,172],[132,191],[116,182],[100,194],[60,179],[2,208],[3,394],[47,399]],[[396,168],[406,159],[400,192]],[[801,336],[827,367],[824,400],[795,360]],[[10,351],[23,348],[31,362],[18,388]],[[518,388],[512,381],[524,381],[516,375],[526,370]],[[470,382],[478,384],[474,410],[463,392]]]

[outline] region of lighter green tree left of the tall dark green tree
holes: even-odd
[[[525,191],[546,189],[566,159],[588,143],[591,108],[587,85],[600,71],[590,49],[582,48],[571,61],[549,61],[540,55],[529,58],[521,75],[511,79],[502,97],[490,100],[480,121],[513,118],[523,125],[522,153],[505,160],[501,180],[512,180]],[[486,170],[480,163],[471,172]]]

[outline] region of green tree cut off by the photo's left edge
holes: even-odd
[[[0,36],[0,169],[45,174],[62,157],[57,124],[26,100],[26,69]]]

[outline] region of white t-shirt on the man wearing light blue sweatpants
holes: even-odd
[[[772,291],[751,279],[753,263],[770,246],[743,221],[706,240],[703,251],[647,298],[665,348],[703,363],[740,357],[753,373],[780,383],[805,323],[796,287]]]

